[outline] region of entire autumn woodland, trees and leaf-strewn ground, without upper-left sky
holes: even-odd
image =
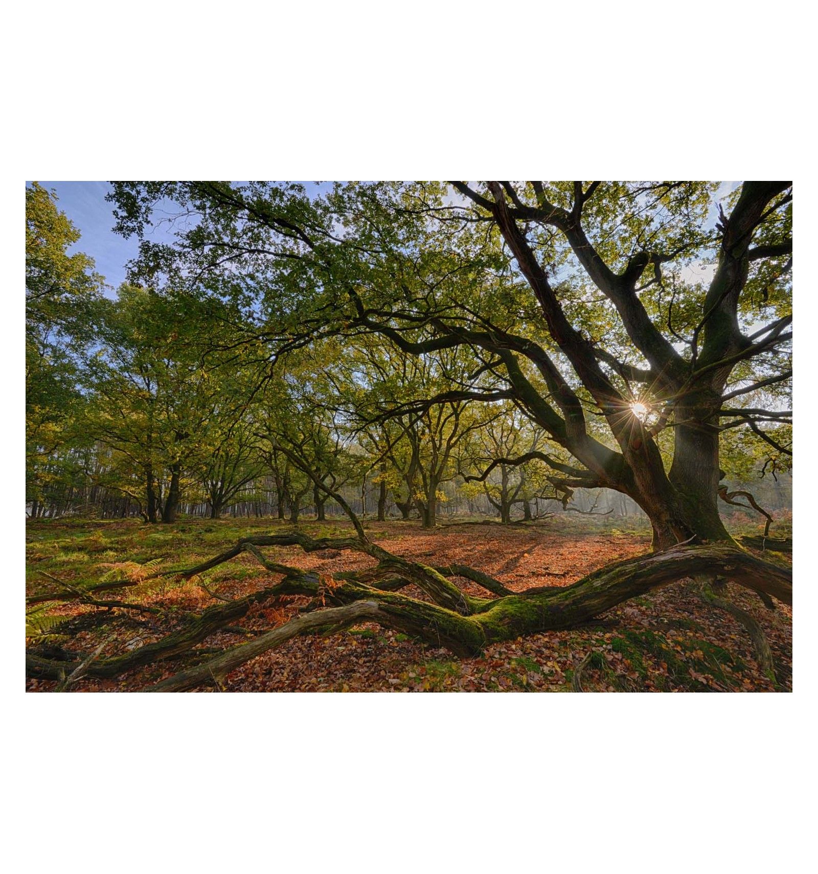
[[[26,689],[792,690],[792,202],[27,185]]]

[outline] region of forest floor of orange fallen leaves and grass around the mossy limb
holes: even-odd
[[[351,531],[345,521],[305,521],[298,527],[313,537],[346,536]],[[401,556],[426,564],[472,565],[518,592],[530,586],[568,586],[602,565],[648,551],[650,543],[644,524],[632,519],[600,522],[561,516],[525,526],[446,524],[434,531],[422,531],[417,522],[366,522],[365,527],[371,538]],[[106,574],[110,579],[135,566],[124,563],[151,562],[149,572],[190,567],[241,537],[291,529],[288,523],[270,519],[186,519],[172,525],[130,519],[29,522],[27,594],[94,585]],[[288,565],[323,574],[371,563],[351,551],[306,554],[298,547],[265,551]],[[788,556],[770,551],[765,558],[789,562]],[[205,586],[222,599],[252,593],[280,579],[246,554],[204,576]],[[471,594],[486,595],[475,584],[465,587]],[[44,654],[55,645],[87,654],[104,643],[100,657],[118,655],[159,640],[178,628],[185,614],[218,603],[195,580],[173,577],[149,579],[123,592],[127,595],[113,597],[158,607],[161,613],[117,609],[100,624],[96,617],[85,615],[100,614],[98,607],[47,602],[31,617],[31,625],[47,635],[37,641],[27,639],[27,644],[45,647],[40,649]],[[423,597],[413,588],[404,592]],[[574,671],[592,652],[598,655],[581,675],[586,691],[791,690],[791,609],[776,604],[774,611],[768,610],[757,596],[732,584],[726,597],[759,621],[772,649],[775,682],[759,669],[744,626],[704,602],[683,580],[629,600],[583,628],[494,644],[480,658],[455,658],[446,649],[371,624],[324,637],[295,638],[233,671],[220,690],[562,692],[572,690]],[[245,639],[287,621],[306,603],[305,598],[288,598],[283,606],[256,606],[240,622]],[[241,641],[241,636],[222,632],[199,648],[222,649]],[[190,659],[168,659],[116,680],[80,679],[70,688],[138,691],[190,664]],[[26,681],[30,691],[51,691],[55,685]]]

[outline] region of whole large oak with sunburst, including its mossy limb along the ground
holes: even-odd
[[[653,526],[655,554],[572,586],[513,593],[479,569],[409,561],[372,542],[322,472],[277,442],[275,451],[348,514],[353,537],[244,538],[176,572],[195,575],[250,552],[279,582],[211,607],[136,653],[90,667],[32,655],[30,673],[59,677],[83,667],[116,676],[191,649],[253,603],[294,594],[312,598],[306,614],[156,690],[211,682],[293,635],[360,621],[473,654],[490,642],[570,628],[683,577],[698,579],[705,597],[745,622],[759,663],[772,671],[758,623],[718,599],[708,579],[731,579],[770,606],[771,598],[792,602],[790,572],[738,549],[717,504],[721,434],[749,429],[775,463],[789,451],[792,189],[748,182],[718,205],[715,191],[678,182],[455,182],[346,184],[310,196],[292,184],[116,184],[118,227],[142,236],[133,278],[157,289],[186,284],[191,296],[229,300],[243,313],[229,341],[218,337],[222,349],[266,350],[275,367],[322,337],[377,334],[421,359],[468,347],[474,369],[454,387],[413,399],[412,410],[513,402],[559,448],[495,461],[536,459],[551,468],[555,489],[607,487],[632,497]],[[192,219],[177,245],[143,236],[161,199]],[[711,275],[691,281],[691,267]],[[328,579],[260,551],[287,545],[357,550],[371,564]],[[468,595],[458,578],[491,597]],[[401,591],[410,585],[425,600]]]

